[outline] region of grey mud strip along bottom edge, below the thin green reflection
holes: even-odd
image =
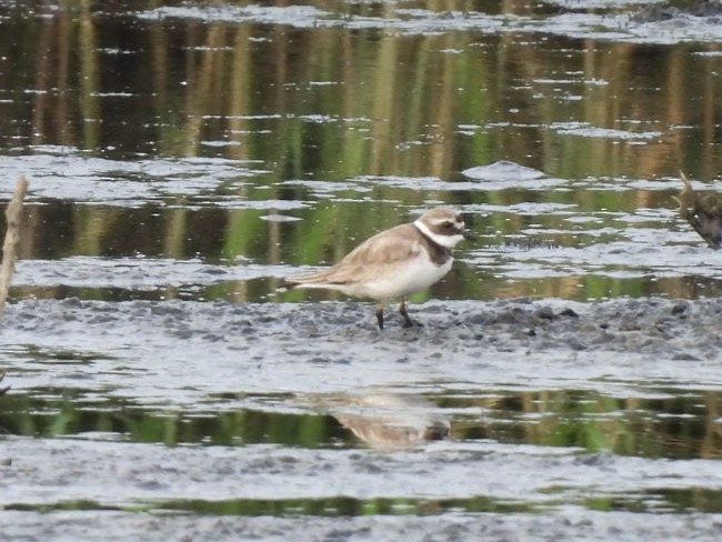
[[[143,516],[106,512],[111,529],[99,528],[98,512],[61,512],[46,516],[48,523],[38,532],[22,512],[3,512],[11,523],[13,540],[30,542],[83,540],[100,536],[107,541],[139,540],[138,533],[152,531],[170,540],[227,541],[264,540],[303,541],[408,540],[454,542],[459,540],[588,541],[693,540],[716,541],[722,516],[665,515],[650,522],[633,512],[589,512],[568,510],[553,515],[529,514],[454,514],[439,516],[371,518],[198,518],[178,515]],[[663,521],[661,521],[663,518]],[[52,522],[52,523],[51,523]],[[96,539],[100,540],[100,539]]]

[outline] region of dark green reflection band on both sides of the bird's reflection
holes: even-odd
[[[334,418],[330,412],[333,401],[325,412],[319,403],[318,413],[284,413],[262,406],[221,408],[228,401],[224,397],[208,401],[207,410],[163,411],[132,400],[101,400],[94,392],[82,390],[11,391],[0,398],[0,430],[32,436],[96,433],[92,438],[167,445],[277,443],[302,448],[372,445],[355,436],[354,430],[362,425],[369,431],[384,431],[383,416],[377,420],[360,412]],[[424,399],[429,412],[449,423],[449,438],[457,442],[491,440],[644,458],[722,458],[719,391],[664,389],[651,398],[618,398],[584,390],[472,391]],[[284,404],[297,399],[264,397],[255,398],[258,401]],[[473,410],[482,414],[469,414]],[[445,411],[461,413],[444,415]],[[394,412],[397,420],[403,415],[403,409]]]

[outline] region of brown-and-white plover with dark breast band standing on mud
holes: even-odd
[[[461,214],[437,207],[404,224],[381,231],[349,252],[335,265],[300,277],[289,277],[292,288],[337,290],[345,295],[377,301],[375,317],[383,330],[383,310],[399,300],[403,327],[414,325],[407,297],[441,280],[453,263],[452,250],[471,238]]]

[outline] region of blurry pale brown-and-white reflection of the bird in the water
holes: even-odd
[[[333,413],[342,425],[373,448],[408,449],[449,436],[449,422],[434,413],[437,405],[419,395],[372,392],[334,400]]]

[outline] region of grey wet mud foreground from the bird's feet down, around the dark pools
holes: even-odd
[[[431,301],[410,310],[423,325],[402,329],[390,317],[380,332],[371,305],[354,302],[10,305],[2,358],[12,388],[2,401],[81,387],[80,410],[94,395],[168,416],[315,413],[333,416],[358,441],[168,446],[129,441],[118,430],[41,440],[8,434],[0,451],[3,534],[719,538],[716,459],[472,438],[459,430],[470,408],[439,398],[575,389],[664,399],[675,388],[722,389],[722,301]],[[690,492],[692,510],[676,496]],[[598,500],[610,508],[595,510]]]

